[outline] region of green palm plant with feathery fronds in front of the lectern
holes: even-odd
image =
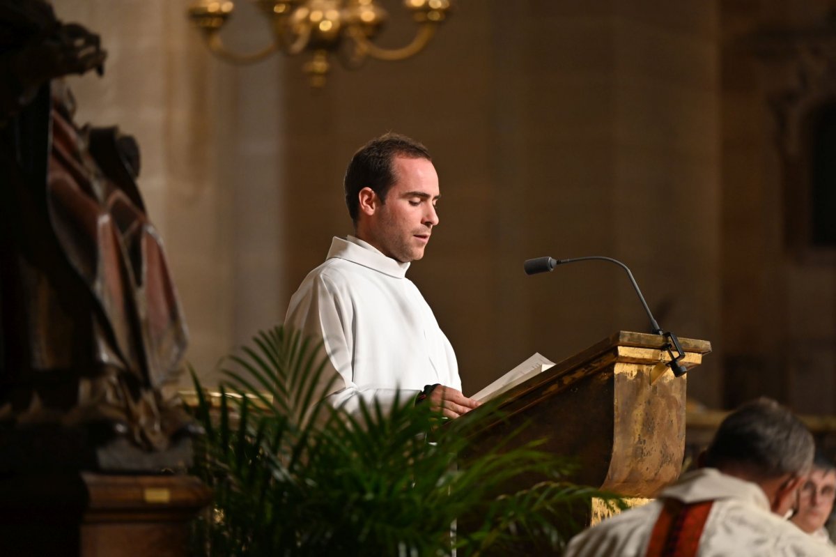
[[[194,473],[215,492],[194,554],[479,555],[521,539],[554,549],[579,529],[579,506],[619,504],[564,482],[568,461],[537,442],[458,461],[474,420],[442,424],[413,401],[355,415],[318,404],[330,387],[323,352],[298,332],[262,332],[230,360],[217,408],[192,373],[206,429]],[[544,481],[499,494],[519,473]],[[451,533],[461,519],[467,528]]]

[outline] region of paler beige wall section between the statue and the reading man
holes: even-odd
[[[109,53],[103,78],[69,79],[76,120],[119,125],[140,142],[140,188],[186,311],[188,361],[212,383],[219,358],[275,324],[287,303],[278,235],[280,64],[218,63],[185,10],[170,0],[55,3],[59,18],[99,33]],[[237,14],[242,30],[229,38],[238,48],[266,38],[248,30],[255,16]]]

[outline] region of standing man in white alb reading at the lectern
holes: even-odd
[[[354,154],[344,187],[354,236],[334,238],[328,258],[293,294],[285,326],[324,342],[337,378],[332,405],[386,408],[400,396],[461,416],[478,402],[461,394],[452,346],[405,278],[438,224],[429,152],[404,135],[382,135]]]

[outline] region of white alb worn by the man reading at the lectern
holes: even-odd
[[[405,401],[434,383],[461,391],[456,355],[406,279],[409,266],[359,238],[334,238],[293,294],[285,326],[324,341],[334,406],[355,412],[363,399],[388,408],[399,392]]]

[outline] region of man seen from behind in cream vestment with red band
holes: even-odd
[[[836,555],[783,518],[813,451],[813,436],[790,411],[749,402],[723,420],[700,469],[575,536],[564,557]]]

